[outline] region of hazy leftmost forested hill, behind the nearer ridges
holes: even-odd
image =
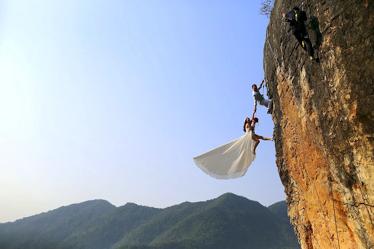
[[[71,236],[92,219],[115,209],[106,200],[62,206],[0,226],[0,248],[58,248],[59,243]]]

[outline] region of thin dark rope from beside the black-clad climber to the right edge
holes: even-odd
[[[307,12],[308,12],[308,15],[309,15],[310,20],[312,20],[312,19],[311,19],[311,14],[310,14],[311,11],[309,10],[310,7],[309,7],[309,4],[308,4],[308,0],[306,0],[306,4],[307,4],[307,8],[306,8],[306,10],[307,10]],[[312,34],[313,34],[313,39],[315,40],[315,44],[317,44],[317,38],[316,38],[316,34],[315,34],[315,32],[314,32],[313,27],[312,27]],[[320,62],[321,62],[321,57],[319,56],[318,48],[316,48],[316,51],[317,51],[318,58],[319,58],[319,60],[320,60]],[[309,64],[310,64],[310,61],[309,61]],[[325,80],[325,83],[327,83],[327,77],[326,77],[326,74],[325,74],[325,70],[324,70],[324,68],[323,68],[323,66],[322,66],[322,62],[320,63],[320,65],[321,65],[322,72],[323,72],[323,74],[324,74],[324,80]],[[312,69],[310,69],[310,71],[311,71],[311,74],[312,74]],[[330,92],[329,92],[328,90],[327,90],[327,92],[328,92],[329,101],[330,101],[330,103],[331,103],[331,107],[332,107],[332,109],[333,109],[333,111],[334,111],[334,114],[335,114],[335,120],[337,121],[337,125],[338,125],[338,128],[339,128],[340,134],[341,134],[341,138],[343,139],[344,147],[345,147],[345,150],[346,150],[346,152],[347,152],[347,155],[348,155],[348,158],[349,158],[350,164],[351,164],[351,165],[353,166],[353,168],[355,169],[355,168],[357,168],[357,166],[353,163],[353,160],[352,160],[352,158],[351,158],[351,155],[350,155],[350,153],[349,153],[349,151],[348,151],[347,144],[346,144],[345,138],[344,138],[344,136],[343,136],[343,132],[341,131],[341,127],[340,127],[340,124],[339,124],[339,122],[338,122],[338,116],[337,116],[337,113],[336,113],[335,108],[334,108],[334,103],[332,102],[332,99],[331,99],[331,96],[330,96]],[[318,114],[319,114],[319,113],[318,113]],[[322,133],[322,127],[321,127],[321,133]],[[369,218],[370,218],[371,225],[372,225],[372,227],[373,227],[373,229],[374,229],[373,219],[371,218],[371,215],[370,215],[370,212],[369,212],[369,209],[368,209],[368,205],[367,205],[366,202],[365,202],[364,193],[362,192],[361,185],[359,184],[359,179],[357,178],[357,175],[354,175],[354,178],[355,178],[355,180],[356,180],[356,183],[358,184],[358,187],[359,187],[359,190],[360,190],[360,193],[361,193],[362,200],[364,201],[366,211],[367,211],[368,216],[369,216]]]

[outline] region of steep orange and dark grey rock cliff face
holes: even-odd
[[[321,57],[310,64],[281,16],[300,4],[275,0],[268,37],[280,67],[264,47],[288,215],[303,249],[374,247],[374,1],[305,1]]]

